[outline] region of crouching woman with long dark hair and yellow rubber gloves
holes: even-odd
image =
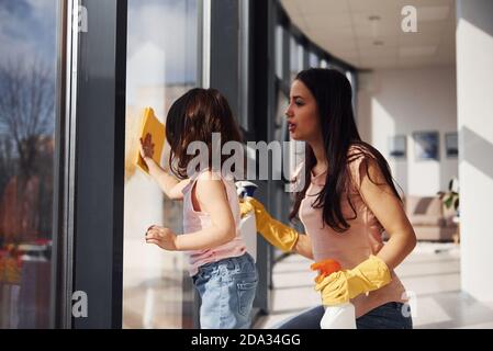
[[[315,261],[339,261],[343,271],[315,286],[323,305],[350,301],[358,328],[412,328],[405,290],[393,269],[413,250],[416,236],[389,165],[358,134],[349,81],[334,69],[301,71],[285,116],[291,137],[306,141],[306,183],[290,215],[300,217],[306,235],[270,218],[253,199],[243,212],[254,207],[258,231],[272,245]],[[390,237],[385,245],[383,230]],[[281,328],[320,328],[323,315],[317,306]]]

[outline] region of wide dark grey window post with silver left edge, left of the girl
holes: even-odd
[[[86,33],[74,16],[79,5],[88,13]],[[60,93],[57,129],[59,279],[53,319],[61,328],[121,328],[127,1],[67,0],[60,8],[66,95]],[[72,316],[74,291],[87,293],[87,317]]]

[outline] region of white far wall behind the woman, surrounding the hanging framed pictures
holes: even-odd
[[[445,152],[445,134],[457,132],[456,69],[428,67],[360,73],[358,128],[388,159],[405,194],[435,195],[458,174],[457,158]],[[413,132],[439,132],[439,160],[416,161]],[[389,137],[406,135],[407,157],[389,156]]]

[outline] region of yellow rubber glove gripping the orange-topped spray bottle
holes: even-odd
[[[390,281],[391,275],[385,262],[371,254],[368,260],[351,270],[338,271],[326,276],[315,285],[315,290],[321,292],[324,306],[333,306],[380,288]]]

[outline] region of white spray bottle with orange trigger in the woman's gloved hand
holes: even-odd
[[[318,275],[315,279],[316,283],[322,282],[325,276],[341,270],[339,262],[332,259],[315,262],[310,268],[313,271],[318,271]],[[325,314],[321,320],[322,329],[356,329],[355,306],[350,302],[324,307]]]

